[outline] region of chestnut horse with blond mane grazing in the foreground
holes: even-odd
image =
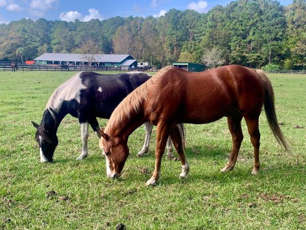
[[[156,185],[160,177],[161,159],[169,135],[180,155],[180,177],[186,178],[189,164],[184,152],[184,130],[177,124],[206,124],[222,117],[227,117],[233,149],[221,171],[231,170],[236,164],[244,118],[254,147],[252,174],[257,174],[260,168],[258,121],[263,104],[276,140],[288,150],[277,123],[272,85],[263,72],[240,65],[200,73],[165,67],[127,96],[112,113],[105,130],[101,130],[100,148],[107,155],[107,175],[111,178],[121,175],[129,155],[127,139],[138,126],[148,121],[157,125],[157,144],[155,169],[146,185]]]

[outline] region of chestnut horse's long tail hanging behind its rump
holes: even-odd
[[[279,128],[278,122],[277,122],[277,117],[276,117],[276,112],[275,112],[275,105],[274,105],[274,93],[273,93],[273,88],[272,84],[269,80],[269,78],[266,76],[266,74],[261,71],[261,70],[256,70],[257,74],[262,77],[262,79],[265,82],[265,101],[264,101],[264,108],[266,112],[266,117],[268,120],[268,124],[270,126],[270,129],[275,136],[276,141],[280,144],[283,145],[284,148],[287,151],[290,151],[290,146],[285,140],[285,136]]]

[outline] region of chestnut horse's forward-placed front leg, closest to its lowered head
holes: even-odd
[[[170,126],[165,123],[157,125],[156,132],[156,148],[155,148],[155,169],[152,177],[146,182],[146,186],[155,186],[161,174],[161,163],[168,136],[170,133]]]

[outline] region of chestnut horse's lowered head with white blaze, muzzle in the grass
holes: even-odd
[[[112,137],[100,130],[101,136],[99,146],[106,155],[106,173],[109,178],[115,179],[121,176],[125,160],[129,156],[127,141],[120,137]]]

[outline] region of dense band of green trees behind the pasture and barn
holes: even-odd
[[[0,25],[2,60],[82,53],[88,47],[95,53],[131,54],[158,67],[189,61],[209,67],[241,64],[301,70],[306,65],[306,0],[286,7],[275,0],[238,0],[205,14],[170,9],[158,18],[40,18]]]

